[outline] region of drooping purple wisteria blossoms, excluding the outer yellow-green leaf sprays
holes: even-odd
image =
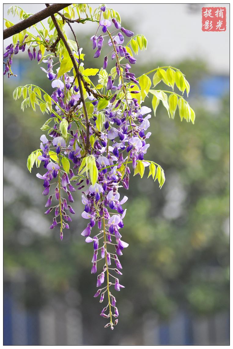
[[[143,168],[151,163],[144,161],[144,154],[149,147],[146,140],[151,135],[151,132],[146,132],[150,126],[151,115],[148,113],[151,109],[146,106],[140,107],[140,101],[132,98],[132,95],[139,94],[136,87],[139,82],[135,74],[130,72],[131,65],[136,63],[136,59],[130,55],[127,46],[123,46],[123,42],[125,36],[132,37],[134,33],[121,27],[115,18],[112,18],[112,22],[101,19],[104,12],[105,6],[102,6],[99,11],[99,25],[91,40],[95,50],[94,58],[101,55],[104,40],[107,40],[107,45],[113,49],[104,57],[103,70],[107,68],[108,57],[111,55],[111,59],[115,60],[115,72],[105,75],[105,81],[99,74],[99,82],[103,84],[104,89],[106,88],[109,102],[103,109],[98,109],[101,99],[96,99],[90,93],[87,95],[89,103],[93,105],[87,125],[77,80],[67,73],[59,75],[59,68],[55,68],[53,55],[50,54],[47,59],[43,59],[47,69],[43,67],[41,69],[47,74],[51,86],[55,89],[51,95],[51,104],[55,109],[42,127],[43,130],[50,129],[48,135],[50,139],[44,134],[41,136],[40,150],[31,154],[29,168],[31,169],[34,162],[37,165],[42,162],[46,169],[45,174],[38,173],[37,177],[43,180],[43,195],[48,196],[45,214],[52,211],[54,213],[50,229],[58,226],[61,239],[64,229],[69,229],[71,215],[75,213],[71,206],[74,202],[72,195],[76,191],[75,186],[77,190],[81,190],[84,205],[82,217],[89,221],[81,235],[86,238],[87,243],[93,243],[94,246],[91,273],[96,274],[97,266],[101,264],[99,266],[101,270],[98,271],[100,273],[97,275],[98,290],[94,297],[100,297],[100,303],[105,297],[106,305],[100,315],[109,319],[105,327],[110,326],[113,329],[118,322],[115,318],[119,313],[112,289],[114,287],[115,291],[120,291],[124,287],[119,283],[119,275],[122,275],[119,256],[122,255],[124,248],[128,247],[128,243],[122,240],[120,233],[126,214],[126,209],[123,209],[122,205],[128,198],[124,196],[120,199],[119,189],[129,188],[128,164],[131,163],[132,168],[137,170],[138,163],[143,163]],[[116,30],[111,33],[108,28],[112,23]],[[102,30],[102,33],[98,35],[99,30]],[[11,44],[6,47],[3,57],[7,58],[7,62],[3,74],[8,73],[8,77],[14,75],[11,71],[13,55],[19,50],[25,50],[26,38],[27,34],[21,44],[18,42],[16,45]],[[35,47],[33,52],[29,48],[28,54],[30,60],[37,58],[40,62],[42,59],[41,50],[36,52]],[[76,60],[82,67],[83,63],[79,56]],[[50,128],[48,124],[52,120],[55,120],[55,124]],[[87,127],[90,136],[88,152]],[[95,169],[97,175],[94,180]],[[135,174],[139,171],[140,169],[135,171]],[[153,168],[150,171],[154,178]],[[99,230],[96,235],[92,233],[95,224]]]

